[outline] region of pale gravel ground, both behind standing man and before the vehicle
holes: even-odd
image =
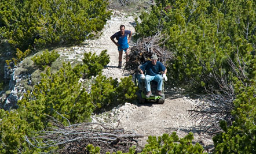
[[[87,40],[83,50],[96,52],[100,54],[102,50],[107,49],[110,56],[110,62],[103,70],[107,77],[122,78],[129,76],[129,72],[124,72],[123,67],[118,69],[118,50],[112,43],[110,36],[119,31],[119,26],[123,24],[127,30],[135,33],[135,22],[129,14],[115,11],[111,20],[107,21],[102,35],[97,40]],[[130,46],[133,46],[134,40],[131,40]],[[124,55],[124,54],[123,54]],[[123,59],[123,63],[125,60]],[[139,144],[147,144],[148,136],[161,136],[163,133],[177,132],[179,137],[184,137],[189,132],[194,134],[194,142],[199,142],[206,149],[213,148],[213,141],[209,134],[200,132],[198,123],[192,122],[187,117],[188,111],[195,103],[195,100],[182,96],[177,92],[178,89],[167,89],[165,92],[166,99],[164,104],[131,104],[126,103],[124,106],[114,108],[114,110],[94,115],[93,121],[112,122],[123,127],[126,131],[144,134],[144,138],[139,138]],[[107,115],[107,118],[106,118]]]

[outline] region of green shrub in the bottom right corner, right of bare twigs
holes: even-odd
[[[221,122],[224,133],[213,138],[215,153],[255,153],[256,152],[256,91],[255,80],[248,81],[250,86],[244,86],[238,81],[235,85],[238,93],[232,111],[235,121],[232,126]]]

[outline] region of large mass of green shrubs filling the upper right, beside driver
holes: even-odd
[[[232,76],[229,61],[255,77],[256,10],[254,1],[156,1],[150,13],[142,13],[137,22],[139,37],[158,31],[170,39],[164,47],[174,54],[168,70],[174,85],[192,89],[218,88],[216,76]],[[237,61],[243,59],[245,63]],[[240,65],[240,66],[239,66]]]

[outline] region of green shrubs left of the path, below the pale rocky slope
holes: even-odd
[[[87,53],[83,62],[85,66],[77,65],[74,68],[70,63],[63,63],[63,67],[56,73],[51,73],[50,68],[47,69],[45,74],[41,74],[39,84],[35,85],[32,91],[27,91],[23,99],[19,100],[17,110],[10,113],[0,110],[1,153],[41,152],[41,149],[32,148],[25,141],[25,136],[29,137],[32,132],[47,130],[47,126],[50,125],[49,119],[62,122],[64,125],[87,122],[90,121],[92,112],[98,108],[108,108],[117,105],[117,102],[123,103],[136,98],[136,86],[131,76],[123,78],[118,83],[117,79],[101,75],[101,69],[109,62],[107,51],[101,52],[98,56]],[[87,92],[85,88],[88,87],[83,87],[79,79],[83,76],[89,81],[90,75],[97,78],[90,92]],[[45,146],[40,141],[31,142]],[[49,150],[45,149],[44,152]],[[87,150],[94,153],[100,151],[99,148],[93,147],[87,147]]]

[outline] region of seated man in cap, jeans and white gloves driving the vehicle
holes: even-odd
[[[146,76],[144,75],[145,70],[147,73]],[[163,72],[163,76],[161,76],[159,72]],[[152,55],[151,61],[148,61],[144,63],[144,65],[140,66],[141,79],[145,79],[145,85],[147,90],[146,98],[149,98],[151,95],[150,81],[152,80],[158,82],[157,95],[163,96],[162,84],[163,78],[165,81],[167,81],[166,72],[166,67],[163,66],[162,62],[158,61],[158,56],[156,54]]]

